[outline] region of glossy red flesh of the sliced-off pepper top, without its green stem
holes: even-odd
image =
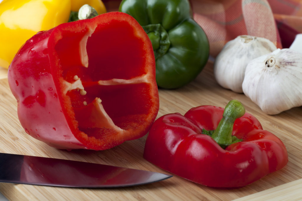
[[[221,148],[202,129],[215,130],[223,108],[205,105],[184,116],[157,119],[146,140],[144,158],[178,176],[210,187],[242,187],[283,168],[287,150],[249,113],[236,119],[232,135],[243,139]]]

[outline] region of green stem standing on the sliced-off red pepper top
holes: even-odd
[[[238,142],[238,139],[235,136],[232,136],[233,126],[235,120],[242,117],[244,114],[245,108],[238,100],[231,100],[224,108],[223,117],[212,135],[212,138],[222,148]],[[234,139],[234,137],[236,139]]]

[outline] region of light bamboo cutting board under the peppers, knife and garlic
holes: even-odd
[[[0,69],[0,152],[94,162],[169,174],[143,158],[146,136],[104,151],[59,150],[30,137],[18,121],[17,102],[8,86],[7,70]],[[274,133],[284,142],[288,149],[288,164],[253,184],[237,189],[210,188],[174,175],[153,184],[109,189],[0,183],[0,192],[10,200],[302,199],[302,107],[292,108],[279,115],[266,115],[244,94],[220,87],[214,79],[211,61],[192,83],[178,90],[160,89],[159,98],[158,117],[174,112],[185,114],[190,108],[199,105],[224,107],[231,99],[238,99],[246,107],[246,112],[259,119],[263,129]]]

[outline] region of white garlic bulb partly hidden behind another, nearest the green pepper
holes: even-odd
[[[214,75],[224,88],[243,93],[242,82],[246,65],[254,58],[276,50],[266,38],[242,35],[226,43],[214,61]]]

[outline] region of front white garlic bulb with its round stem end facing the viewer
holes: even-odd
[[[246,67],[244,94],[266,114],[276,115],[302,105],[302,53],[277,49]]]

